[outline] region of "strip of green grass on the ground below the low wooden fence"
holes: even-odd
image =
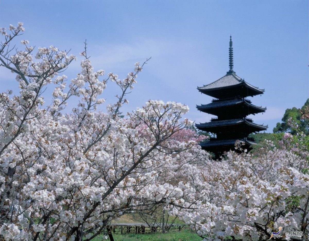
[[[113,234],[115,241],[201,241],[202,238],[193,231],[183,229],[182,231],[171,231],[166,234]],[[103,237],[97,237],[93,241],[103,241]],[[108,239],[109,240],[109,239]]]

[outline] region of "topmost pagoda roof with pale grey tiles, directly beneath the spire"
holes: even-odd
[[[218,90],[222,89],[234,89],[234,88],[239,88],[239,87],[246,87],[250,91],[242,92],[242,96],[253,96],[257,94],[262,94],[264,93],[264,89],[259,89],[258,87],[255,87],[253,85],[250,85],[244,79],[238,77],[234,71],[229,71],[226,73],[225,76],[221,77],[220,79],[208,84],[208,85],[203,85],[202,87],[197,87],[197,89],[201,93],[205,93],[207,95],[210,95],[215,98],[222,98],[222,94],[218,92]],[[226,92],[222,92],[225,93]],[[231,94],[234,93],[234,90],[231,91]],[[224,96],[224,95],[223,95]],[[226,95],[225,95],[226,96]]]

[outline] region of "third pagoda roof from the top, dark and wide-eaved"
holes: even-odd
[[[218,132],[219,130],[221,130],[226,126],[238,126],[240,129],[248,129],[246,127],[251,127],[250,130],[252,131],[250,131],[249,133],[266,130],[268,128],[268,125],[264,126],[255,124],[249,118],[230,119],[230,120],[212,119],[212,121],[210,122],[195,124],[195,126],[200,130],[214,133]]]

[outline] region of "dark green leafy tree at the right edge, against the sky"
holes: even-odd
[[[288,120],[293,115],[299,123],[299,131],[303,131],[305,135],[309,134],[309,120],[301,118],[302,112],[305,110],[306,107],[309,106],[309,99],[305,102],[301,109],[293,107],[292,109],[286,109],[282,117],[282,123],[277,123],[276,127],[273,128],[273,133],[280,133],[280,132],[290,132],[292,135],[296,134],[296,130],[291,128]]]

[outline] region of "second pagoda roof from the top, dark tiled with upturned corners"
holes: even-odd
[[[223,99],[223,100],[213,100],[211,103],[206,105],[200,105],[196,106],[198,110],[201,110],[203,112],[209,113],[209,114],[215,114],[220,109],[236,106],[236,105],[245,105],[252,108],[252,113],[260,113],[264,112],[266,110],[266,107],[263,108],[262,106],[255,106],[251,104],[251,101],[245,98],[233,98],[233,99]]]

